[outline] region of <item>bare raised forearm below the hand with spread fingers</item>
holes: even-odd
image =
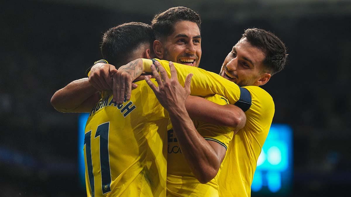
[[[201,136],[185,107],[169,111],[174,134],[191,171],[201,183],[207,183],[216,176],[221,158],[216,150]]]

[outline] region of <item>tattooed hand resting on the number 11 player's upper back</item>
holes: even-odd
[[[131,97],[132,82],[143,72],[143,60],[137,59],[119,67],[113,75],[113,101],[122,104],[126,95],[127,100]]]

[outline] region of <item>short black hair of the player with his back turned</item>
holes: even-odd
[[[141,44],[154,41],[150,25],[142,22],[129,22],[108,29],[102,36],[101,54],[113,65],[124,65],[128,56]],[[152,51],[152,47],[150,47]]]

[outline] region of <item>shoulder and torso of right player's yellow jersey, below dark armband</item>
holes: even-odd
[[[258,156],[269,132],[274,115],[274,102],[257,86],[250,91],[252,105],[246,114],[246,125],[230,142],[218,180],[219,196],[251,196],[251,183]]]

